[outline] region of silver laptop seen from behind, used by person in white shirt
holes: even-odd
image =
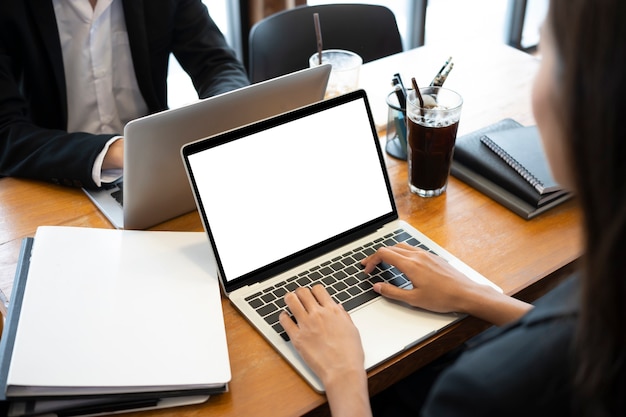
[[[330,65],[310,68],[129,122],[124,177],[85,190],[116,228],[145,229],[195,209],[180,147],[324,97]]]

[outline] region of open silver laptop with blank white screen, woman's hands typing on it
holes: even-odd
[[[322,283],[359,328],[371,369],[460,319],[378,296],[377,280],[410,287],[395,268],[365,275],[381,245],[427,248],[493,283],[398,219],[364,91],[313,104],[181,150],[224,293],[319,392],[278,323],[283,295]]]

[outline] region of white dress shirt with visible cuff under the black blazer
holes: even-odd
[[[121,0],[53,0],[65,69],[68,132],[122,134],[148,113],[133,68]],[[107,143],[93,167],[96,184],[120,175],[101,172]]]

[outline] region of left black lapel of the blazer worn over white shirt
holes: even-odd
[[[54,6],[50,0],[24,0],[35,20],[36,28],[46,48],[50,66],[54,73],[54,79],[61,100],[61,111],[64,121],[67,123],[67,88],[65,85],[65,70],[63,69],[63,52],[59,40]]]

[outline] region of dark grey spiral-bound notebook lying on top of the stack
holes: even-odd
[[[559,191],[536,126],[490,132],[480,141],[532,185],[539,194]]]

